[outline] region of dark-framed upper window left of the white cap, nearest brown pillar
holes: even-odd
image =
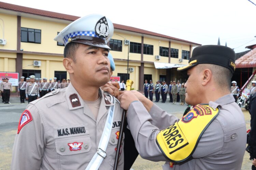
[[[41,30],[21,27],[21,42],[41,44]]]

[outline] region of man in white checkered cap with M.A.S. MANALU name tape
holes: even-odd
[[[108,18],[93,14],[72,22],[55,38],[65,44],[63,66],[71,83],[27,106],[11,169],[113,169],[122,109],[100,89],[111,77],[107,42],[113,32]],[[121,150],[120,170],[123,156]]]

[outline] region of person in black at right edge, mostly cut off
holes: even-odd
[[[251,114],[251,130],[248,135],[247,152],[250,153],[252,160],[252,170],[256,170],[256,95],[250,100],[249,112]]]

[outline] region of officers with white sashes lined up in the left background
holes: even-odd
[[[70,80],[63,79],[62,82],[57,81],[55,77],[52,82],[52,79],[49,79],[47,82],[46,78],[39,79],[35,78],[34,75],[30,75],[29,78],[20,77],[18,83],[18,92],[20,95],[20,103],[25,103],[25,99],[28,100],[28,103],[34,101],[40,97],[43,97],[48,92],[51,92],[58,88],[65,88],[70,84]],[[3,82],[0,83],[0,90],[2,95],[2,102],[5,104],[9,103],[10,92],[12,89],[12,83],[9,82],[8,78],[3,78]],[[43,80],[43,81],[42,81]]]

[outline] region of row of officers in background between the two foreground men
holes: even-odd
[[[150,100],[153,101],[154,92],[156,96],[155,102],[159,102],[160,94],[161,94],[161,98],[162,98],[161,102],[165,103],[167,99],[167,93],[169,93],[169,96],[170,96],[169,102],[172,102],[172,104],[175,104],[175,101],[177,102],[181,101],[180,105],[184,105],[185,103],[185,87],[184,87],[184,83],[180,84],[180,81],[177,81],[177,84],[175,81],[171,81],[168,86],[165,81],[163,81],[161,85],[160,81],[158,80],[154,85],[152,80],[150,80],[150,84],[148,84],[147,80],[145,80],[145,83],[144,83],[145,97],[148,98],[148,95],[149,95]]]

